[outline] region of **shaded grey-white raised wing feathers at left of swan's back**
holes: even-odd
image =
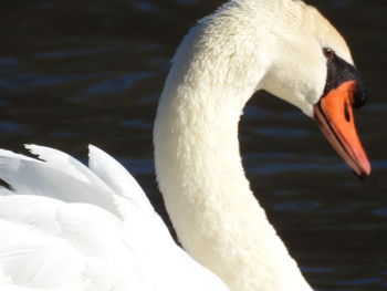
[[[44,147],[29,148],[49,162],[0,149],[0,178],[11,185],[14,193],[93,204],[121,216],[113,200],[114,193],[86,167],[82,168],[81,163],[59,150],[52,149],[54,155],[50,156]]]

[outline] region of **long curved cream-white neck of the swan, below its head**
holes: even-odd
[[[219,13],[238,17],[228,12],[201,21],[174,58],[154,129],[159,188],[184,248],[231,290],[311,290],[244,175],[238,124],[270,59],[241,49],[240,25],[222,30],[232,20]]]

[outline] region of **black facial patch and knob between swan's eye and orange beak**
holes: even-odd
[[[324,96],[332,90],[338,87],[341,84],[347,81],[355,81],[357,87],[354,91],[354,96],[352,100],[352,105],[355,108],[362,107],[366,102],[365,90],[362,81],[360,73],[353,65],[348,64],[343,59],[338,58],[331,49],[326,52],[324,50],[324,55],[326,56],[327,64],[327,76],[326,84],[324,89]]]

